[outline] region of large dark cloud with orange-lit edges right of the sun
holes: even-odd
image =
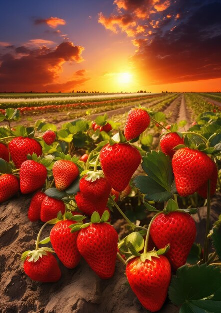
[[[221,77],[221,2],[115,0],[106,29],[133,37],[135,71],[146,84]],[[123,18],[128,16],[127,23]]]

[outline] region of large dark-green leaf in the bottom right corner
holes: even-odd
[[[200,312],[204,309],[206,312],[220,312],[221,302],[213,301],[216,291],[221,288],[221,271],[219,267],[187,265],[180,267],[176,276],[172,276],[169,287],[169,298],[175,305],[182,305],[180,312],[186,311],[186,307],[192,307],[191,312]],[[208,300],[210,298],[210,300]],[[208,302],[211,302],[208,304]],[[209,306],[208,306],[209,305]]]

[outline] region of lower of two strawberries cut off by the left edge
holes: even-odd
[[[10,199],[19,191],[19,182],[14,175],[3,174],[0,176],[0,203]]]

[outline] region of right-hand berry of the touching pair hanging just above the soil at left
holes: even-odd
[[[46,196],[41,203],[41,221],[47,222],[48,220],[56,218],[59,211],[64,214],[64,202]]]

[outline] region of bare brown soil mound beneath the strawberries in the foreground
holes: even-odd
[[[219,195],[213,203],[213,217],[220,210],[217,206],[220,199]],[[34,248],[34,240],[42,223],[31,223],[28,220],[29,203],[30,197],[21,196],[3,203],[0,208],[0,312],[147,312],[130,289],[124,275],[124,266],[118,261],[115,274],[109,280],[101,280],[81,259],[80,264],[72,270],[59,262],[62,278],[57,283],[31,281],[23,271],[20,254]],[[199,221],[197,218],[199,219],[196,215],[196,221]],[[200,220],[204,221],[204,217]],[[122,224],[123,220],[115,223],[118,232],[122,230]],[[51,227],[44,229],[42,238],[49,235]],[[176,313],[178,308],[167,300],[161,312]]]

